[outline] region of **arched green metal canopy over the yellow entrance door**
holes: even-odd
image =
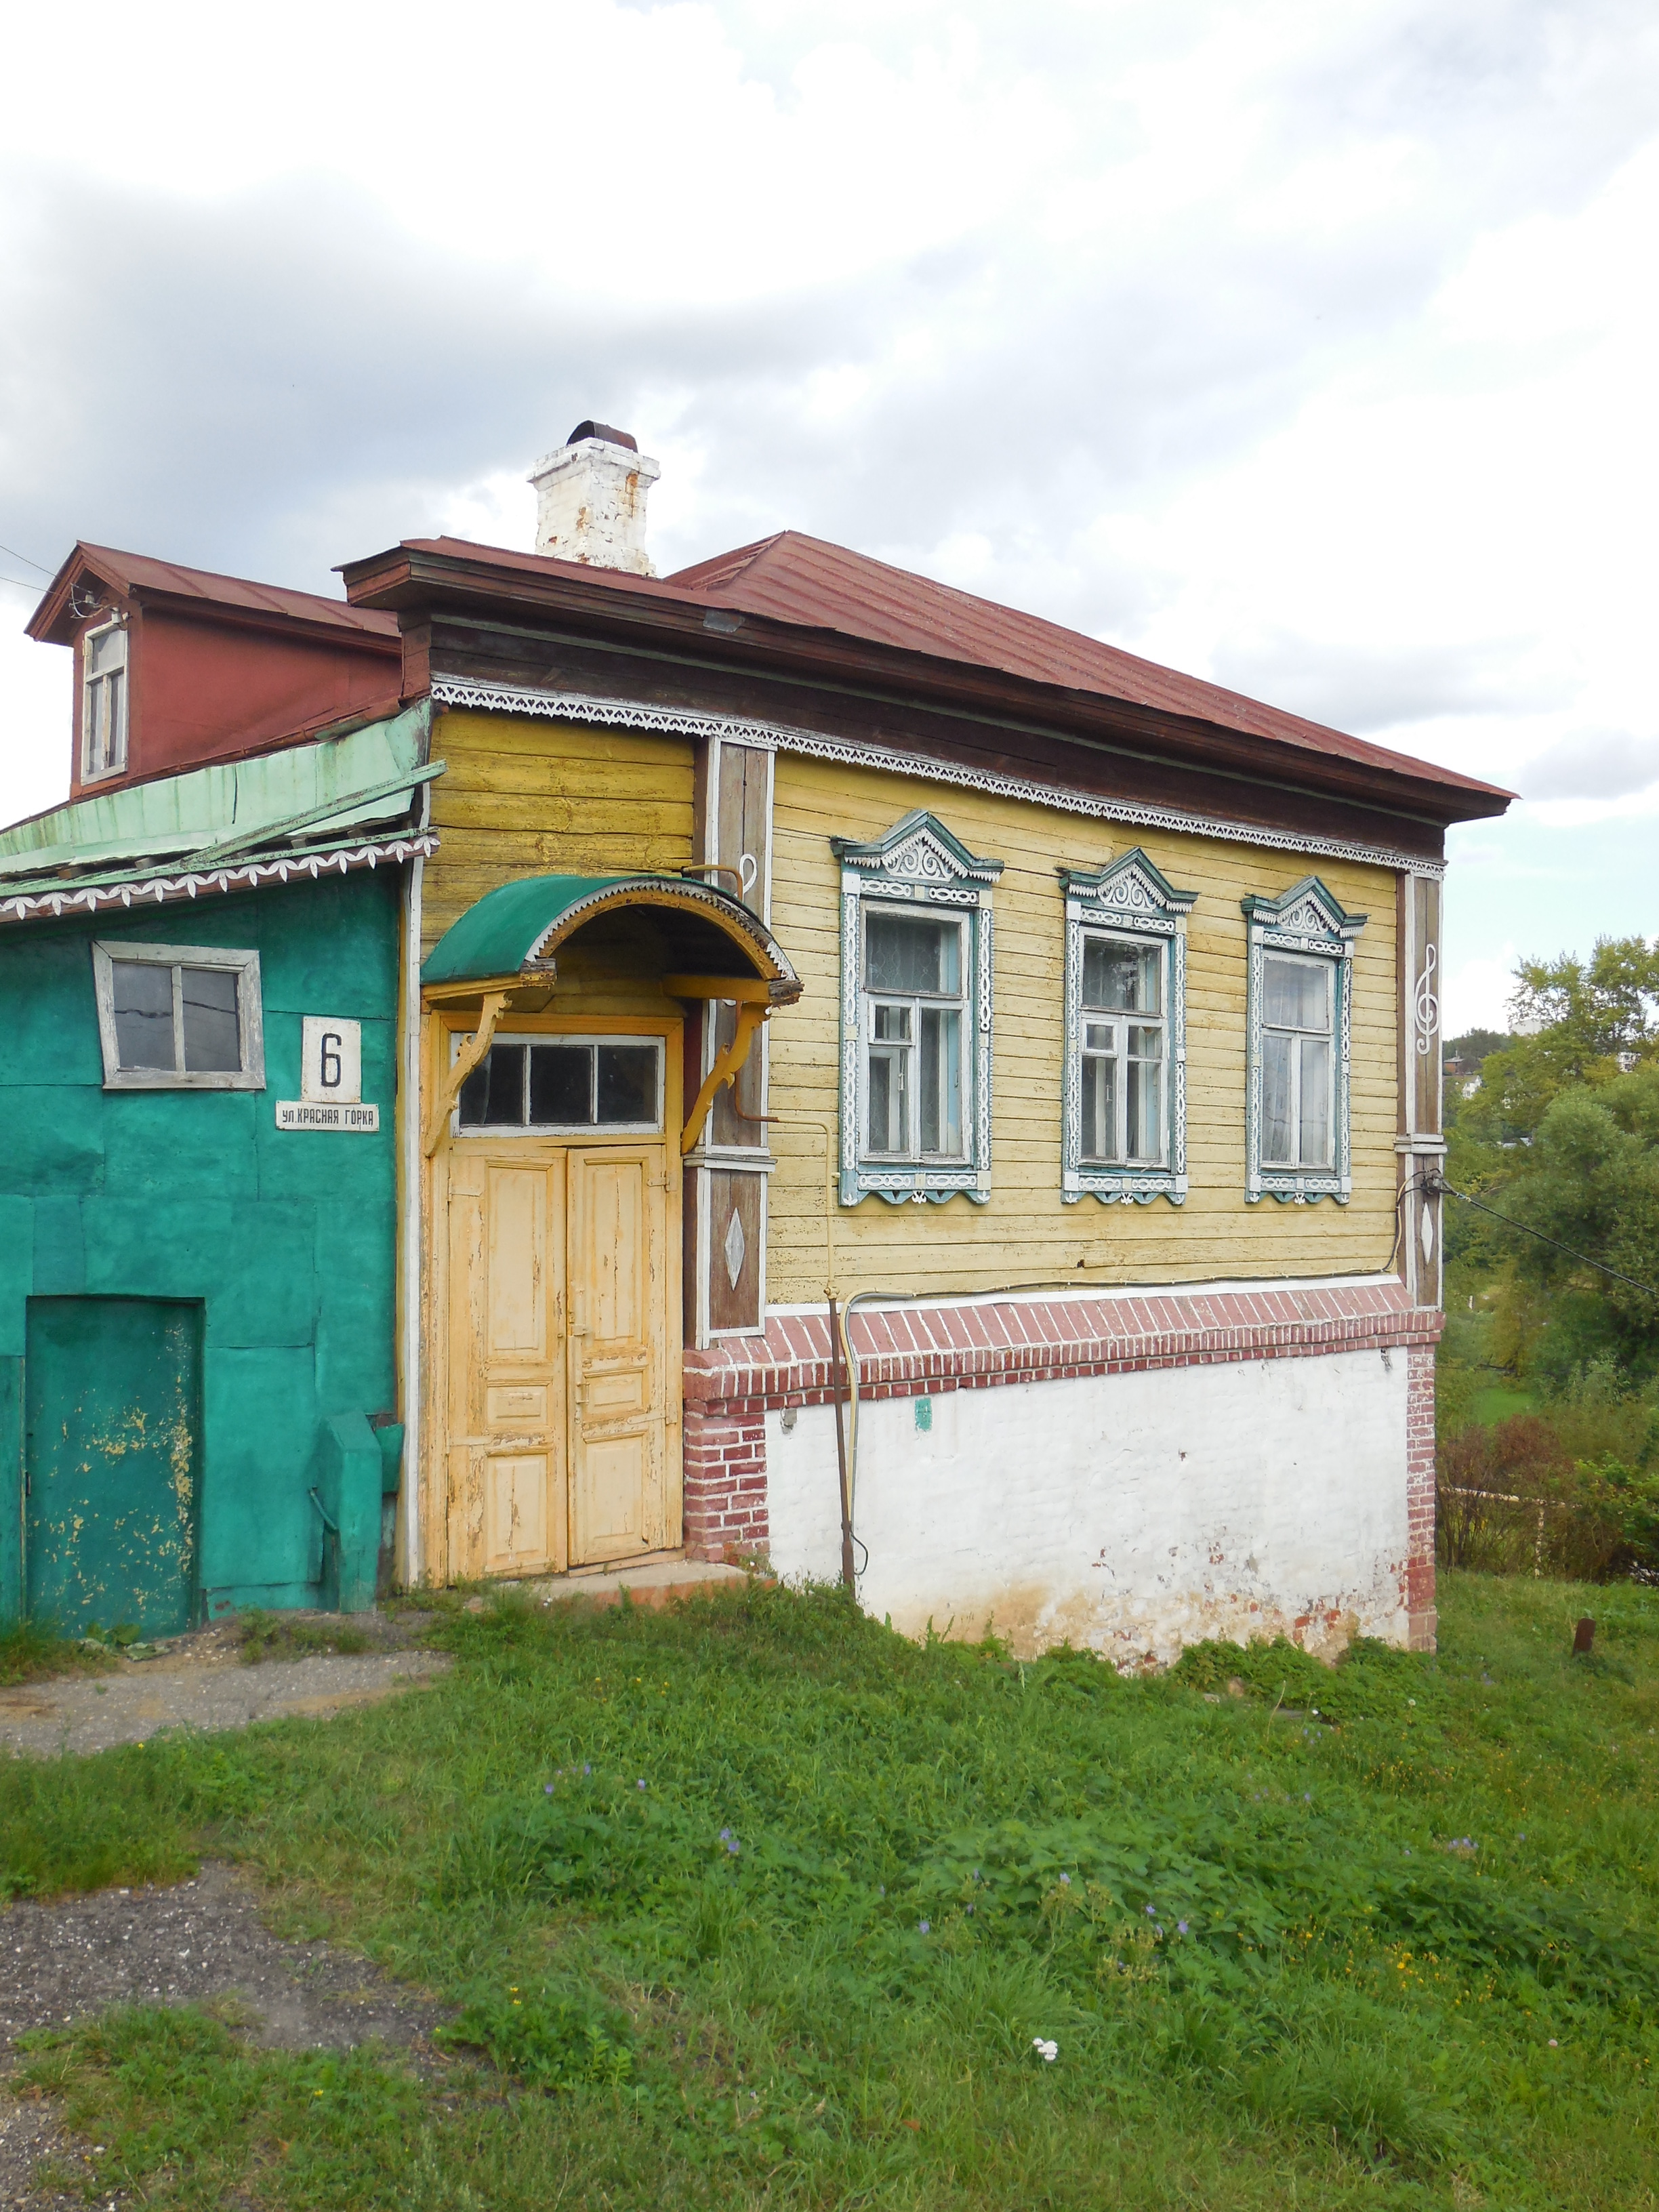
[[[799,980],[776,938],[750,909],[686,876],[520,876],[484,891],[445,929],[420,969],[422,984],[487,982],[518,975],[573,929],[617,907],[655,907],[712,922],[768,982]]]

